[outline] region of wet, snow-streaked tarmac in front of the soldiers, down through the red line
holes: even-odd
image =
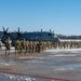
[[[0,52],[0,72],[31,76],[42,81],[81,81],[81,49],[46,50],[17,56],[12,49],[8,57],[3,49]]]

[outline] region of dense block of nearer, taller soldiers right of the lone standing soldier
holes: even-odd
[[[40,52],[41,44],[38,41],[16,40],[14,42],[15,54]]]

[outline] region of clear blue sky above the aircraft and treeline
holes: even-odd
[[[81,0],[0,0],[0,30],[81,35]]]

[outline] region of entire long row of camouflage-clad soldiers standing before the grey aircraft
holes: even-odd
[[[0,49],[2,42],[0,40]],[[8,38],[5,40],[5,56],[10,55],[12,40]],[[15,55],[29,54],[29,53],[40,53],[49,49],[71,49],[71,48],[81,48],[81,41],[29,41],[29,40],[16,40],[14,42]]]

